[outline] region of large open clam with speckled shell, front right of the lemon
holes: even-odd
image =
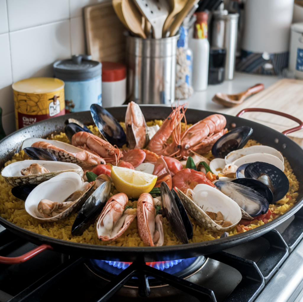
[[[208,229],[225,232],[235,227],[241,220],[242,214],[238,204],[211,186],[198,184],[194,190],[188,189],[186,195],[178,189],[177,192],[191,217]],[[221,212],[224,222],[230,223],[226,223],[228,226],[224,227],[220,225],[222,220],[213,220],[206,212],[217,214]]]

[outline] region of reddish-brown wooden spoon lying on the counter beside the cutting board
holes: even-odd
[[[240,105],[248,96],[264,89],[263,84],[256,84],[247,90],[238,94],[216,93],[212,101],[226,107],[235,107]]]

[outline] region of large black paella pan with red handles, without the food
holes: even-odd
[[[114,107],[108,109],[108,111],[113,116],[115,116],[118,121],[124,121],[126,108],[126,106]],[[171,113],[170,107],[142,106],[141,109],[147,121],[153,119],[165,119]],[[248,110],[251,111],[251,109]],[[258,111],[260,110],[262,109],[258,109]],[[266,111],[266,109],[263,110]],[[206,116],[209,116],[210,114],[214,113],[215,112],[188,109],[185,115],[188,123],[195,123],[205,118]],[[281,113],[281,115],[289,117],[288,115],[285,115],[283,113]],[[293,169],[293,172],[297,176],[297,179],[299,180],[299,182],[302,183],[303,149],[298,144],[286,137],[284,134],[279,133],[261,124],[258,124],[256,122],[252,122],[247,119],[235,116],[224,116],[226,117],[226,126],[229,130],[235,126],[249,126],[254,130],[251,136],[252,139],[256,139],[261,144],[271,146],[277,149],[278,151],[282,152],[283,155],[286,156],[286,158],[288,159]],[[0,142],[0,167],[3,167],[4,163],[12,158],[14,153],[18,151],[18,146],[20,146],[24,139],[28,137],[44,137],[54,131],[64,131],[64,122],[67,118],[75,118],[85,124],[93,123],[91,113],[89,111],[86,111],[71,113],[65,116],[47,119],[45,121],[38,122],[32,126],[20,129],[15,133],[12,133],[11,135],[7,136]],[[302,122],[298,119],[295,119],[295,121],[300,123],[300,126],[297,127],[296,130],[301,129],[303,127]],[[42,245],[41,247],[38,247],[36,251],[29,253],[26,257],[32,257],[33,254],[38,253],[44,249],[54,249],[58,252],[65,254],[73,254],[82,257],[102,260],[118,260],[127,262],[133,262],[135,260],[143,260],[145,262],[176,260],[215,253],[236,246],[240,243],[255,239],[256,237],[265,234],[266,232],[277,227],[280,223],[288,219],[301,208],[301,206],[303,205],[302,184],[300,184],[299,186],[298,193],[299,194],[297,198],[297,203],[293,208],[291,208],[291,210],[261,227],[257,227],[248,232],[234,235],[231,237],[225,237],[200,243],[181,244],[174,246],[112,247],[90,245],[85,243],[73,243],[33,233],[21,227],[17,227],[13,223],[8,222],[2,217],[0,217],[0,224],[10,230],[12,233],[17,234],[22,238],[37,245]],[[4,258],[5,257],[0,257],[0,263],[11,263],[9,262],[9,260],[5,260]],[[20,257],[16,259],[15,263],[22,262],[23,258]]]

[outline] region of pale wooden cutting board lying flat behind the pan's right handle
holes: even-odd
[[[245,100],[241,105],[226,110],[236,115],[245,108],[266,108],[288,113],[303,121],[303,81],[281,79],[268,88]],[[298,123],[282,116],[263,112],[247,112],[241,117],[271,127],[279,132],[298,126]],[[287,135],[303,147],[303,129]]]

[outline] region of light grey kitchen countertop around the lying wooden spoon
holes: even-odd
[[[193,96],[189,100],[188,108],[225,113],[229,108],[216,104],[211,100],[217,92],[235,94],[245,91],[249,87],[258,83],[264,84],[265,88],[267,88],[278,80],[278,76],[253,75],[235,72],[233,80],[224,81],[218,85],[208,85],[205,91],[194,92]],[[182,102],[180,103],[182,104]]]

